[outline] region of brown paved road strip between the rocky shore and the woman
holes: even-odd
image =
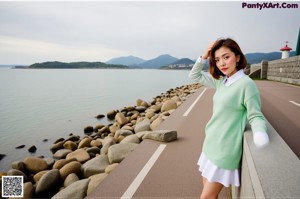
[[[137,176],[165,143],[144,140],[88,198],[199,198],[202,179],[196,163],[201,153],[204,127],[212,114],[214,93],[206,90],[198,98],[203,91],[204,88],[197,91],[159,126],[159,129],[177,130],[178,140],[166,144],[141,183],[136,180]],[[195,106],[187,112],[197,99]],[[224,188],[220,198],[229,197],[229,189]]]

